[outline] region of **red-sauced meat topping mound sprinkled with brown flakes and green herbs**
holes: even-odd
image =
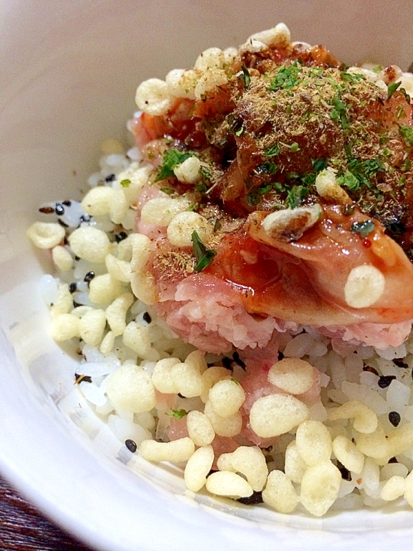
[[[266,339],[294,325],[355,337],[381,324],[362,339],[374,345],[390,324],[407,336],[413,119],[402,79],[395,66],[346,67],[277,25],[138,87],[130,127],[153,172],[137,229],[151,241],[158,311],[178,334],[221,351],[262,346],[257,323]],[[228,315],[242,318],[241,339]]]

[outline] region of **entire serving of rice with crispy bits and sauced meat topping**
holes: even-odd
[[[413,506],[408,92],[284,24],[138,87],[136,147],[28,229],[92,439],[240,508]]]

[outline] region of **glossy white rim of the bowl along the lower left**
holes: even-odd
[[[297,550],[304,542],[308,551],[344,551],[361,543],[385,551],[394,537],[406,548],[411,543],[413,528],[377,530],[380,513],[377,520],[374,515],[368,520],[365,532],[331,530],[324,519],[314,519],[313,530],[295,528],[277,513],[274,526],[268,527],[154,490],[120,462],[113,468],[114,462],[97,453],[51,400],[28,393],[1,329],[0,359],[6,367],[0,371],[0,415],[6,421],[0,425],[0,472],[47,517],[93,548],[189,551],[225,545],[228,551],[238,551],[248,541],[263,551],[277,543],[287,551]],[[411,518],[410,512],[396,514],[399,520]]]

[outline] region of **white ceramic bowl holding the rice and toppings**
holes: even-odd
[[[104,550],[250,545],[308,551],[407,548],[413,512],[283,516],[184,495],[177,470],[93,438],[74,362],[47,334],[47,262],[25,240],[44,200],[78,198],[98,144],[122,137],[136,85],[284,21],[339,59],[413,61],[413,3],[378,0],[7,0],[0,3],[0,470],[52,519]],[[43,260],[40,260],[43,257]]]

